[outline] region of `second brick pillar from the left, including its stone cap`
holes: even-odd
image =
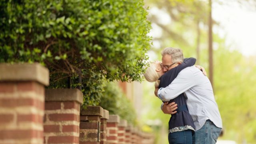
[[[78,89],[46,89],[45,144],[79,144],[80,105]]]

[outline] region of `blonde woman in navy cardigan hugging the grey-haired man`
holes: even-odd
[[[195,62],[195,58],[186,58],[184,62],[164,73],[162,71],[164,66],[161,65],[161,62],[156,61],[150,64],[144,74],[144,77],[149,82],[156,82],[156,85],[159,85],[159,88],[165,88],[176,78],[181,70],[186,67],[193,66]],[[203,70],[200,66],[197,67]],[[192,134],[194,133],[195,127],[186,106],[186,97],[182,93],[173,100],[170,100],[169,103],[170,102],[178,104],[178,109],[176,110],[177,113],[173,114],[169,120],[169,143],[192,144]]]

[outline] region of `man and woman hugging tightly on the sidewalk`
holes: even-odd
[[[169,121],[170,144],[215,144],[222,129],[218,105],[204,68],[178,48],[165,48],[162,62],[147,68],[144,77],[156,82],[155,95],[163,101]],[[201,71],[202,70],[202,71]]]

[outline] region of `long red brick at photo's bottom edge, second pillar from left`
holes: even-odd
[[[79,137],[75,136],[49,136],[48,143],[79,143]]]

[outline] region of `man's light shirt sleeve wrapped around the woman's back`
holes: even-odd
[[[166,88],[160,88],[157,95],[162,101],[169,101],[189,88],[192,88],[194,85],[195,80],[193,73],[188,69],[184,69]]]

